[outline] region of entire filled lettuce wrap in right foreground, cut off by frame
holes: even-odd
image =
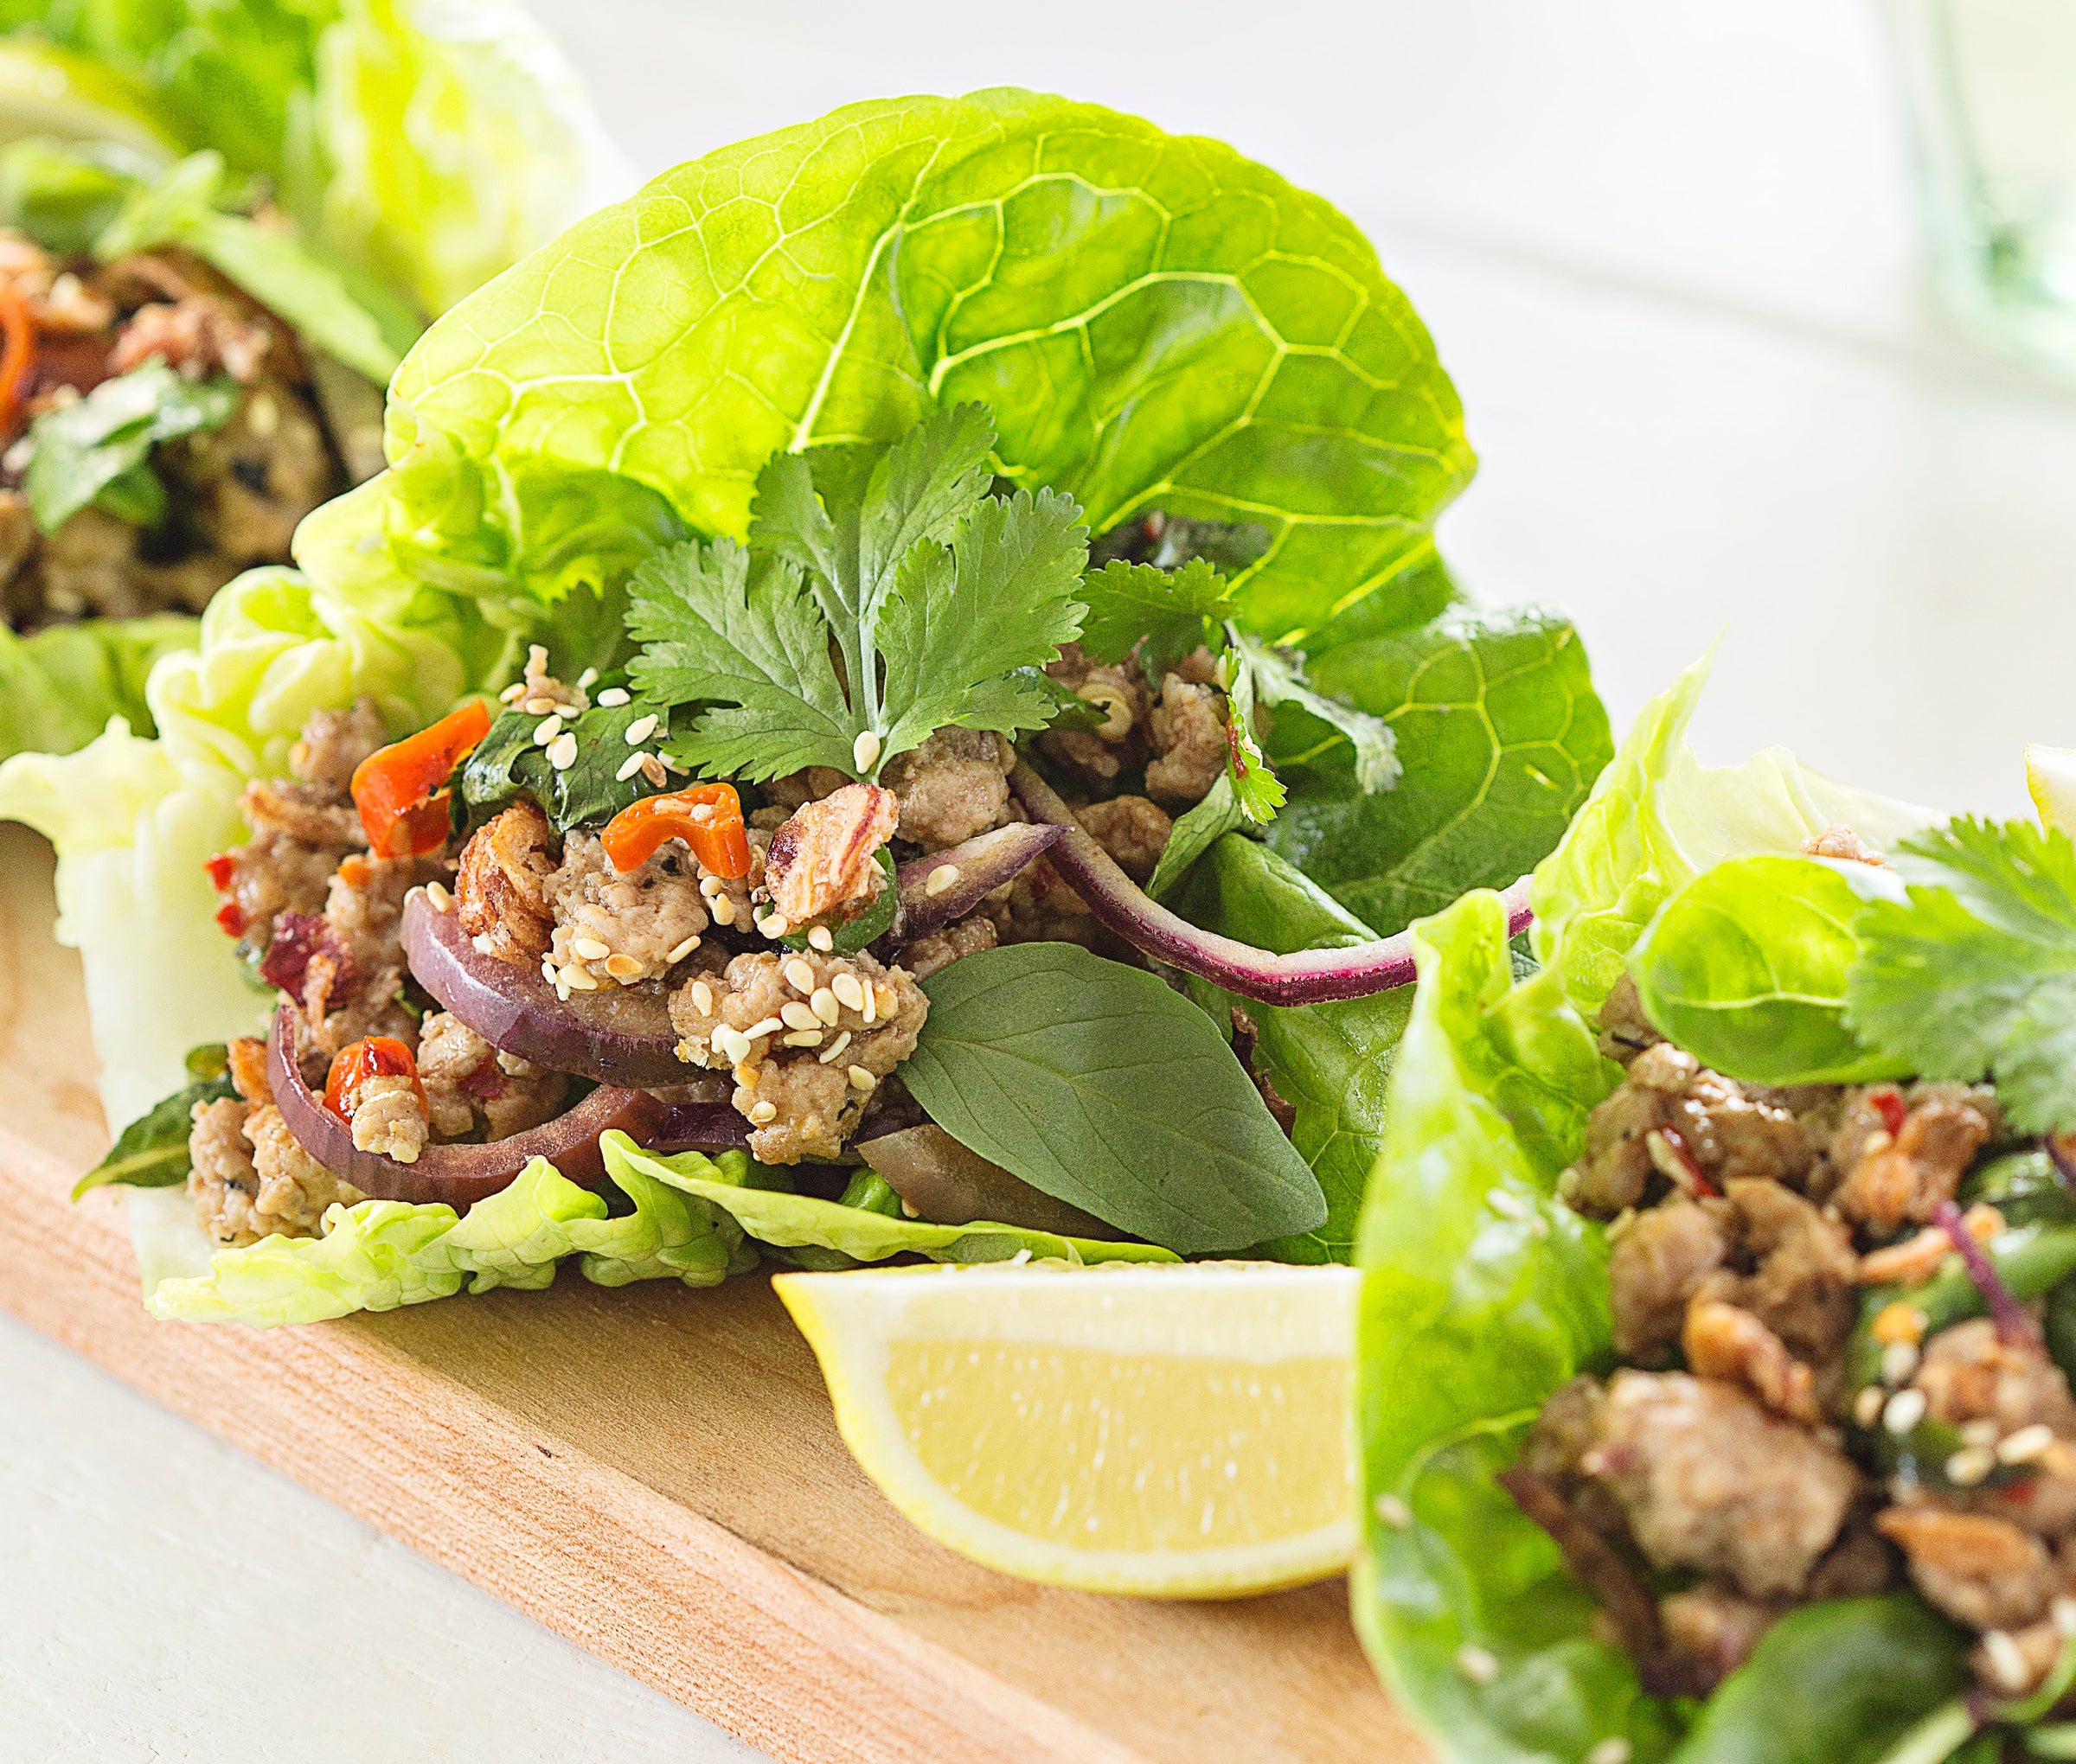
[[[1420,984],[1362,1216],[1356,1617],[1464,1760],[2064,1756],[2076,853],[1655,701]]]

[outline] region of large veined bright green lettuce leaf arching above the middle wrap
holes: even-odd
[[[1472,469],[1362,235],[1227,147],[1023,91],[849,106],[666,172],[399,369],[399,515],[513,579],[513,486],[646,486],[743,538],[776,452],[984,403],[996,469],[1092,531],[1158,504],[1268,533],[1246,621],[1304,629],[1426,546]]]

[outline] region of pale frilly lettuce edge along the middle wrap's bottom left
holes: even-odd
[[[739,1179],[731,1160],[747,1162],[729,1152],[708,1170]],[[741,1233],[727,1214],[644,1170],[608,1166],[608,1173],[633,1202],[633,1212],[619,1218],[608,1218],[604,1195],[579,1189],[546,1158],[534,1158],[511,1187],[461,1216],[444,1204],[334,1206],[322,1237],[264,1237],[245,1249],[218,1249],[208,1274],[160,1280],[145,1305],[164,1320],[276,1328],[419,1305],[463,1287],[540,1289],[554,1283],[556,1266],[571,1256],[583,1278],[602,1287],[629,1280],[718,1287],[731,1270],[754,1264],[754,1256],[739,1253]]]

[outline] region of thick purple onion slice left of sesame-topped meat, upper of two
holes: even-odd
[[[689,1075],[658,992],[617,986],[565,1002],[540,969],[475,948],[461,913],[442,913],[424,888],[403,903],[403,953],[419,986],[507,1054],[610,1085],[683,1083]]]

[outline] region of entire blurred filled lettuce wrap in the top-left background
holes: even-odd
[[[623,185],[507,0],[0,8],[0,755],[382,469],[428,320]]]

